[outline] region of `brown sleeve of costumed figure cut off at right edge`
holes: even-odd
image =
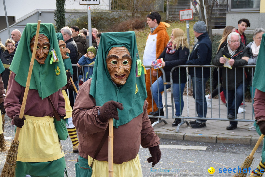
[[[253,106],[257,123],[259,121],[265,121],[265,92],[258,89],[255,90]]]

